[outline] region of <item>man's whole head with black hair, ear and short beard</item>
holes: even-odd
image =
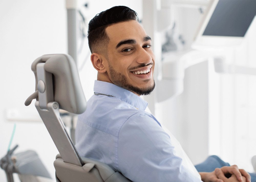
[[[138,23],[137,13],[116,6],[89,23],[88,41],[97,79],[121,86],[137,95],[154,89],[154,54],[151,38]]]

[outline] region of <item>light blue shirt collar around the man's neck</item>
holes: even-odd
[[[93,90],[96,93],[112,95],[132,105],[133,107],[143,111],[146,109],[148,105],[148,103],[145,100],[143,100],[141,97],[113,83],[95,80]]]

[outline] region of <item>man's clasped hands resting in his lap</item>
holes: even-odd
[[[238,181],[242,181],[243,178],[246,178],[246,182],[251,182],[250,174],[247,173],[246,171],[244,171],[243,169],[238,169],[237,165],[224,166],[224,167],[221,167],[221,168],[216,168],[215,169],[215,174],[219,179],[222,179],[224,182],[228,181],[228,179],[229,179],[225,176],[227,174],[230,174],[231,177],[236,176]],[[232,180],[234,180],[233,177],[232,177]]]

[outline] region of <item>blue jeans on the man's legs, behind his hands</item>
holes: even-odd
[[[212,172],[215,168],[223,166],[230,166],[229,163],[222,161],[217,155],[209,156],[204,162],[195,165],[198,172]],[[251,175],[251,182],[256,182],[256,174],[249,173]]]

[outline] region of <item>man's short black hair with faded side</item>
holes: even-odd
[[[102,44],[109,43],[109,37],[105,32],[108,26],[129,20],[138,21],[138,15],[126,6],[114,6],[97,14],[89,22],[88,28],[88,43],[91,53],[95,52]]]

